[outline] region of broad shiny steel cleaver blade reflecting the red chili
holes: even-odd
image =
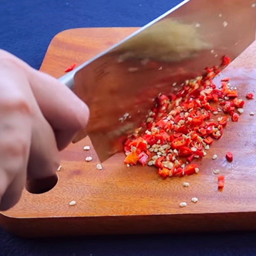
[[[256,1],[255,1],[256,3]],[[255,39],[252,0],[185,0],[60,78],[90,108],[85,131],[101,162],[122,149],[122,139],[140,127],[159,93],[234,60]]]

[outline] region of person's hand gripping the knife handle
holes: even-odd
[[[26,182],[30,187],[47,189],[44,186],[49,183],[43,181],[56,176],[59,150],[85,128],[89,110],[58,80],[3,50],[0,50],[0,77],[0,210],[3,211],[19,201]]]

